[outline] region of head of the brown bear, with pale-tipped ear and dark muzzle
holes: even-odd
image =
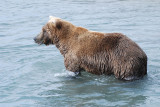
[[[60,18],[50,16],[49,21],[42,27],[42,31],[38,34],[34,41],[38,44],[56,44],[59,40],[68,38],[74,28],[74,25]]]

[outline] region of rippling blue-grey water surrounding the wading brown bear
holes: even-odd
[[[148,75],[124,82],[66,71],[55,46],[33,41],[49,15],[90,30],[126,34],[146,52]],[[0,107],[158,107],[159,19],[159,0],[2,0]]]

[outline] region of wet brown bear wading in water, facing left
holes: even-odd
[[[135,80],[147,74],[147,56],[131,39],[121,33],[100,33],[77,27],[50,16],[38,44],[54,44],[64,56],[67,70],[97,75],[114,74],[122,80]]]

